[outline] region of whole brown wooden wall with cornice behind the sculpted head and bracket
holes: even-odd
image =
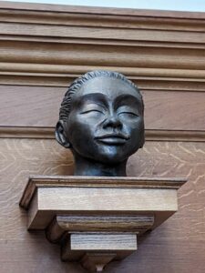
[[[0,16],[0,273],[85,272],[61,262],[44,232],[26,231],[18,201],[30,175],[72,174],[53,139],[58,106],[68,83],[94,69],[125,74],[144,96],[151,141],[128,175],[189,178],[179,212],[106,272],[203,273],[205,14],[3,1]]]

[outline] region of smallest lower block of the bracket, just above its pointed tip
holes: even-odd
[[[63,261],[80,261],[87,254],[112,254],[112,258],[122,259],[132,254],[137,248],[135,233],[72,233],[63,244],[61,258]]]

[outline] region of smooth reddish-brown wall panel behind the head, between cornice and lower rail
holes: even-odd
[[[0,86],[0,126],[56,126],[66,91],[66,87]],[[205,131],[205,93],[152,90],[142,94],[146,129]]]

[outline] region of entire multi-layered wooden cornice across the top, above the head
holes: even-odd
[[[0,16],[2,85],[67,86],[98,68],[142,90],[205,90],[204,13],[1,2]]]

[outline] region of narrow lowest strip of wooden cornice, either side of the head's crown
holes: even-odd
[[[97,67],[97,66],[96,66]],[[85,70],[91,71],[90,67]],[[104,68],[98,66],[97,68]],[[108,68],[108,70],[112,70]],[[121,69],[115,69],[121,72]],[[189,73],[189,72],[188,72]],[[200,73],[199,73],[200,74]],[[1,73],[0,85],[4,86],[40,86],[41,87],[67,87],[78,75],[56,75],[56,74],[37,74],[37,73]],[[205,92],[205,81],[203,79],[188,78],[168,78],[168,77],[146,77],[146,76],[128,76],[140,90],[160,90],[160,91],[191,91]]]

